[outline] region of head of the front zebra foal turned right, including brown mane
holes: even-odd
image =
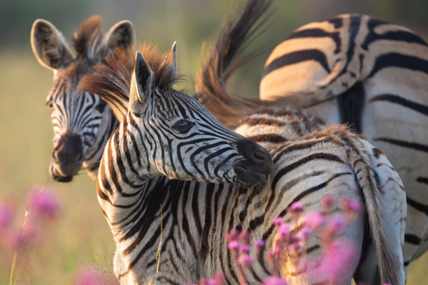
[[[101,64],[101,72],[92,73],[84,82],[85,89],[89,85],[89,90],[97,90],[121,122],[104,152],[104,156],[118,158],[108,163],[122,160],[118,163],[122,174],[135,173],[143,179],[166,175],[180,180],[241,182],[244,187],[265,180],[273,169],[266,149],[227,129],[194,98],[173,89],[176,43],[166,54],[145,46],[136,52],[135,60],[133,51],[124,53],[122,58],[107,60],[107,66]],[[124,61],[127,68],[122,67]],[[124,69],[127,75],[117,73]],[[117,94],[117,87],[125,83],[118,83],[117,78],[130,82],[122,95]],[[104,86],[97,86],[99,82]]]

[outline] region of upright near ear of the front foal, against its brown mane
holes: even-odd
[[[153,73],[141,52],[136,52],[135,70],[131,79],[129,110],[141,114],[141,105],[148,101],[152,93]]]

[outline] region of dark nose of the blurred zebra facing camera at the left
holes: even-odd
[[[83,144],[80,136],[68,133],[62,135],[52,152],[52,160],[57,164],[59,174],[75,175],[83,161]]]

